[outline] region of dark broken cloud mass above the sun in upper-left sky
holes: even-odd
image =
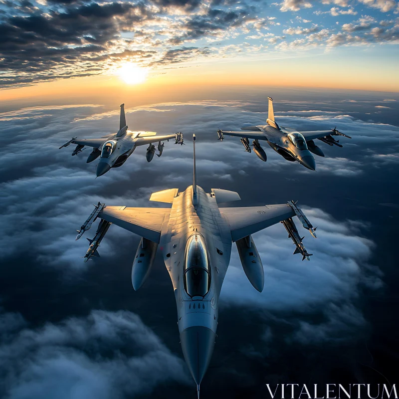
[[[185,43],[267,24],[255,19],[255,6],[238,3],[53,1],[33,6],[25,1],[14,7],[3,1],[0,87],[112,73],[122,61],[156,67],[199,59],[209,48]]]

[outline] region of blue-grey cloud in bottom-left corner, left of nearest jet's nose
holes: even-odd
[[[15,313],[4,319],[13,334],[0,343],[0,392],[9,399],[123,398],[190,381],[183,361],[134,313],[94,310],[35,329]]]

